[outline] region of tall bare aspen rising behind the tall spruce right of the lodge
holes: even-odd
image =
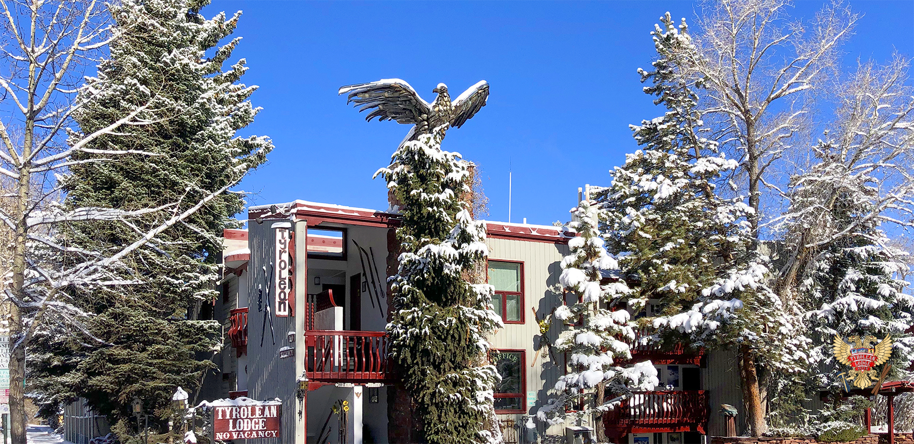
[[[688,69],[707,87],[703,118],[722,149],[739,159],[749,223],[759,247],[762,201],[772,164],[804,132],[809,94],[833,72],[842,42],[857,16],[844,5],[826,5],[807,24],[788,20],[786,0],[707,2],[695,37],[699,57]],[[790,306],[790,305],[788,305]],[[739,348],[739,375],[753,436],[767,430],[756,354]]]

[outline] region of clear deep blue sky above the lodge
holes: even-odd
[[[823,2],[801,1],[810,17]],[[914,56],[914,2],[854,1],[866,16],[845,47],[856,58]],[[409,130],[365,122],[338,87],[407,80],[425,100],[444,82],[456,95],[480,79],[491,95],[482,111],[452,129],[443,148],[482,167],[490,220],[568,219],[577,188],[606,184],[635,143],[628,125],[658,111],[636,74],[654,57],[649,32],[670,11],[690,22],[692,2],[272,2],[221,1],[212,16],[243,10],[235,51],[247,58],[247,84],[262,107],[245,133],[271,136],[269,164],[244,181],[252,205],[305,199],[387,208],[377,168]]]

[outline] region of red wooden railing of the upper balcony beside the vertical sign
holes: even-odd
[[[315,382],[388,378],[387,333],[312,330],[304,333],[304,343],[307,376]]]

